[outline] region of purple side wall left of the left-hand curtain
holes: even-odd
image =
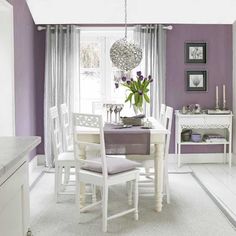
[[[36,30],[25,0],[9,2],[14,10],[16,135],[41,136],[45,37]]]

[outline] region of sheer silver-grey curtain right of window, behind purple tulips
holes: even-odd
[[[146,114],[159,117],[160,106],[165,103],[166,91],[166,30],[163,25],[137,25],[134,40],[143,50],[141,70],[154,79],[150,88],[150,104],[146,104]]]

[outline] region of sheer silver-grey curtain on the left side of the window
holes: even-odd
[[[52,167],[51,127],[49,109],[66,103],[69,114],[79,91],[79,45],[80,30],[75,25],[48,25],[46,29],[46,60],[44,87],[44,146],[46,165]],[[75,80],[75,78],[78,78]],[[75,83],[78,81],[78,84]]]

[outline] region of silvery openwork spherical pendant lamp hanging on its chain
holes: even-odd
[[[112,63],[123,71],[131,71],[142,60],[142,49],[127,40],[127,0],[125,0],[125,37],[111,46],[110,58]]]

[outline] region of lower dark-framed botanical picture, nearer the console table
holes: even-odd
[[[187,91],[207,91],[207,71],[186,71]]]

